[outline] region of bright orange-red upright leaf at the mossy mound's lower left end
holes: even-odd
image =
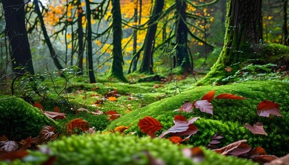
[[[151,137],[153,137],[157,131],[162,129],[162,124],[160,124],[160,122],[155,118],[149,116],[140,119],[138,126],[142,132],[147,133]]]

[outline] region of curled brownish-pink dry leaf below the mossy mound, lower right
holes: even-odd
[[[232,144],[228,144],[219,149],[215,149],[213,151],[220,153],[222,155],[243,155],[248,153],[251,150],[251,147],[246,144],[247,140],[239,140],[237,142],[233,142]]]

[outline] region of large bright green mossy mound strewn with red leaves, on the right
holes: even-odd
[[[215,90],[215,96],[223,93],[243,96],[246,100],[212,100],[213,113],[200,112],[200,109],[194,109],[191,113],[182,113],[173,111],[179,109],[182,104],[189,100],[200,100],[208,91]],[[283,117],[265,118],[257,115],[257,105],[262,100],[277,102]],[[151,116],[159,120],[163,126],[161,131],[165,131],[173,126],[173,117],[177,114],[191,117],[200,116],[195,125],[199,129],[197,134],[189,140],[189,144],[194,146],[206,146],[211,137],[220,132],[224,136],[222,144],[230,144],[237,140],[246,139],[252,147],[262,146],[269,154],[286,155],[289,153],[288,137],[289,132],[289,83],[268,80],[238,83],[224,86],[204,86],[195,87],[189,91],[182,92],[178,96],[165,98],[159,102],[149,104],[139,111],[132,111],[114,120],[107,129],[114,129],[115,126],[125,125],[130,128],[127,132],[136,132],[137,135],[144,135],[138,128],[138,120],[145,116]],[[256,122],[262,122],[266,135],[255,135],[245,128],[248,123],[253,126]],[[159,132],[159,134],[161,133]]]

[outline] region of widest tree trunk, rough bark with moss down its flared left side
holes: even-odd
[[[234,64],[256,58],[253,47],[261,39],[261,0],[228,0],[223,50],[199,84],[222,80],[235,73],[239,66]]]

